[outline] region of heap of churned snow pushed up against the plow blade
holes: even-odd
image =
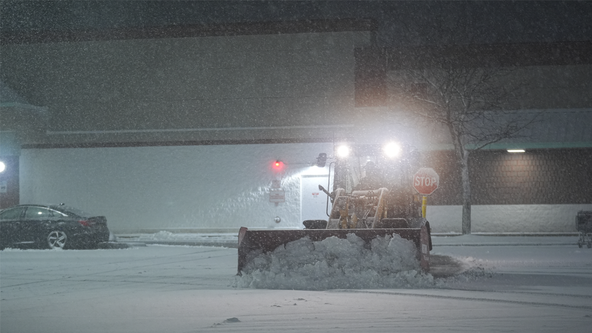
[[[236,278],[236,286],[259,289],[370,289],[434,286],[432,275],[421,273],[413,242],[399,235],[366,244],[347,239],[310,238],[280,246],[271,253],[252,254]]]

